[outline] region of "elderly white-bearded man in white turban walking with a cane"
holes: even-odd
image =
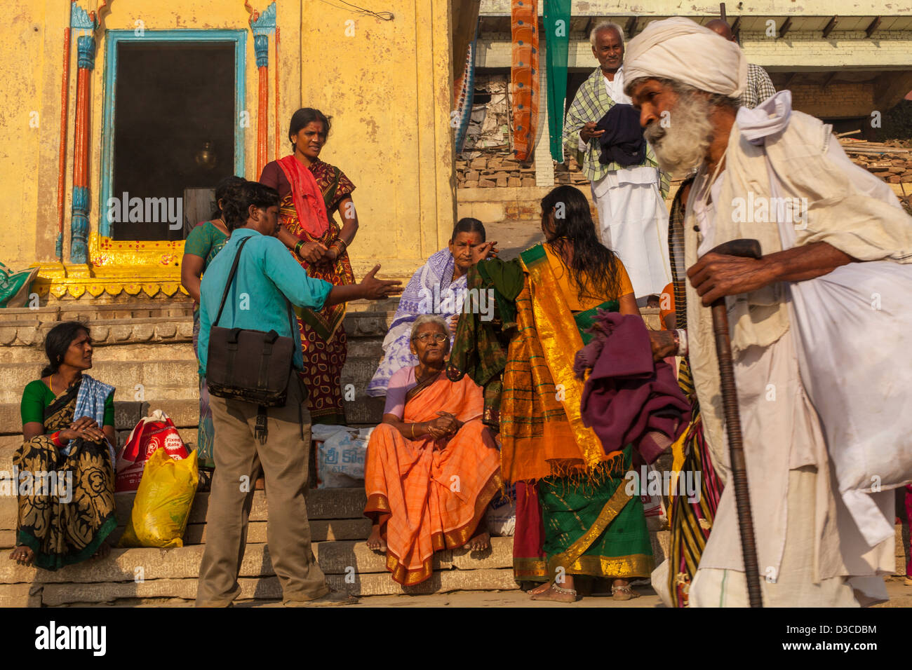
[[[696,169],[683,194],[687,331],[653,334],[654,352],[689,351],[704,436],[726,479],[708,309],[726,297],[763,603],[886,600],[889,489],[912,479],[902,344],[912,332],[912,219],[846,158],[829,126],[793,111],[789,91],[739,109],[747,62],[709,29],[653,22],[627,46],[626,68],[659,165]],[[741,238],[759,241],[762,258],[710,251]],[[734,503],[726,487],[691,605],[747,604]],[[676,569],[654,573],[659,593]]]

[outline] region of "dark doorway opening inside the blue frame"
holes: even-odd
[[[115,240],[181,240],[185,191],[214,190],[234,173],[234,44],[117,48],[114,173],[102,211]]]

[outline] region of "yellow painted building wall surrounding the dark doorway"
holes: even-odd
[[[268,3],[251,3],[263,10]],[[80,0],[91,11],[94,0]],[[361,228],[351,247],[356,274],[375,263],[406,275],[437,251],[455,215],[450,129],[449,0],[385,0],[392,21],[318,0],[279,0],[279,131],[287,152],[288,122],[300,106],[333,116],[321,156],[358,190]],[[5,232],[0,261],[19,269],[54,260],[63,34],[69,0],[9,0],[0,23],[0,206]],[[109,0],[96,31],[90,77],[89,229],[98,229],[106,29],[248,29],[245,177],[256,179],[257,71],[243,0]],[[353,23],[348,23],[351,21]],[[354,31],[354,35],[350,33]],[[347,32],[349,35],[347,35]],[[69,256],[76,35],[70,48],[64,253]],[[270,36],[268,157],[275,159],[275,42]],[[29,128],[29,112],[40,125]],[[175,119],[179,122],[180,119]]]

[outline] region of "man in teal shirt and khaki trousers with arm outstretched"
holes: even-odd
[[[250,240],[244,244],[217,325],[275,330],[279,335],[293,337],[297,370],[303,368],[300,335],[289,323],[286,299],[299,307],[318,310],[324,304],[358,298],[379,300],[402,291],[399,282],[375,278],[379,265],[361,283],[353,285],[334,286],[310,277],[275,238],[278,210],[278,193],[256,181],[239,184],[224,201],[223,215],[231,238],[206,268],[200,284],[198,351],[203,375],[212,320],[218,313],[238,246],[246,238]],[[247,541],[251,482],[261,465],[269,492],[269,555],[285,603],[356,602],[329,590],[311,551],[306,507],[310,415],[305,398],[301,378],[292,371],[285,405],[265,409],[268,431],[261,443],[254,438],[259,411],[254,403],[212,396],[215,473],[206,514],[206,549],[196,593],[198,607],[228,606],[241,593],[237,577]]]

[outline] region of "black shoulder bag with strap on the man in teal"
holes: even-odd
[[[234,274],[237,273],[241,252],[249,240],[248,237],[238,245],[231,273],[228,274],[228,282],[222,294],[222,303],[219,304],[218,314],[212,321],[206,362],[206,385],[212,396],[233,398],[258,405],[260,411],[256,421],[256,434],[264,441],[265,407],[285,405],[288,377],[294,364],[295,339],[282,337],[275,330],[264,333],[262,330],[223,328],[218,325],[234,281]],[[295,317],[287,298],[285,304],[288,307],[288,325],[294,334]]]

